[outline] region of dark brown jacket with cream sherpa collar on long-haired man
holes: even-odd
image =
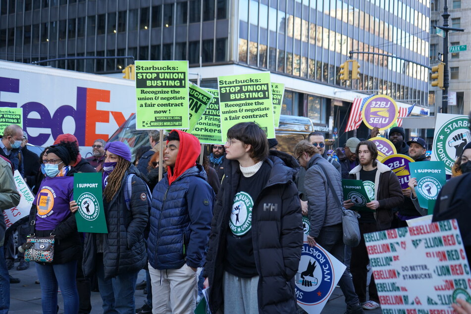
[[[374,178],[374,199],[379,202],[379,208],[374,212],[374,218],[378,225],[378,230],[386,230],[391,227],[393,219],[392,209],[399,206],[404,201],[401,185],[396,174],[391,169],[376,161],[378,171]],[[362,165],[358,165],[349,172],[348,178],[360,180],[360,170]]]

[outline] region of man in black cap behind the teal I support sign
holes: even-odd
[[[423,139],[416,137],[412,141],[407,142],[407,144],[409,145],[409,156],[414,159],[414,161],[428,161],[427,157],[425,157],[427,146]],[[415,191],[412,189],[403,189],[402,194],[404,195],[404,203],[402,203],[397,212],[398,227],[407,227],[406,220],[417,218],[424,214],[426,215],[427,211],[419,211],[414,204],[414,200],[417,200]]]

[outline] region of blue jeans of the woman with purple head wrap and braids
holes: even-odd
[[[134,292],[136,292],[136,272],[118,274],[105,280],[103,254],[97,254],[97,276],[104,314],[136,313]],[[152,304],[152,303],[151,303]]]

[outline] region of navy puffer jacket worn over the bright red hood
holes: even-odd
[[[177,269],[205,263],[214,192],[203,166],[183,172],[172,184],[160,180],[152,193],[147,253],[155,269]]]

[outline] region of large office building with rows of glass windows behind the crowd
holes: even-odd
[[[217,75],[270,71],[285,84],[282,113],[337,128],[343,144],[355,97],[386,94],[428,114],[429,17],[429,0],[0,0],[0,58],[186,59],[207,87]],[[358,80],[339,79],[349,57]],[[106,74],[131,62],[42,64]]]

